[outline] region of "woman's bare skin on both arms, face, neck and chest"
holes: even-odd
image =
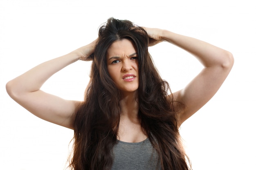
[[[182,101],[186,105],[183,110],[177,113],[181,125],[218,91],[233,66],[234,58],[228,51],[195,38],[162,29],[146,27],[144,29],[150,38],[150,46],[163,41],[169,42],[193,54],[204,66],[202,71],[186,87],[173,93],[175,100]],[[40,87],[49,77],[65,66],[77,60],[86,61],[87,57],[93,53],[96,42],[97,40],[67,55],[44,62],[9,81],[6,85],[7,93],[18,104],[41,119],[72,129],[74,114],[80,102],[61,99],[41,91]],[[138,142],[146,139],[137,118],[138,106],[135,102],[135,91],[138,86],[137,77],[134,82],[130,83],[122,82],[120,78],[123,74],[130,72],[138,76],[136,60],[134,61],[134,58],[131,60],[131,57],[135,56],[130,56],[135,52],[128,40],[114,42],[108,50],[108,58],[119,57],[115,58],[115,60],[118,59],[116,64],[108,62],[108,71],[124,96],[120,101],[119,140],[127,142]]]

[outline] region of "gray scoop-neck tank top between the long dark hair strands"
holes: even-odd
[[[111,170],[160,170],[158,155],[149,139],[137,143],[118,141]]]

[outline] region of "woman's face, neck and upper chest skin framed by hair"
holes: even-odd
[[[120,101],[118,139],[126,142],[143,141],[147,136],[141,129],[137,117],[138,106],[135,97],[139,87],[139,73],[137,54],[132,42],[127,39],[114,42],[108,49],[107,63],[108,73],[123,96]]]

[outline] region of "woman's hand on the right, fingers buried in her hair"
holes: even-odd
[[[148,44],[148,46],[154,46],[155,44],[158,44],[159,42],[164,41],[161,38],[162,29],[147,28],[147,27],[143,27],[143,28],[148,33],[148,37],[149,37],[149,44]]]

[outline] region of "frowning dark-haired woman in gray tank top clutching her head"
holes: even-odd
[[[162,41],[188,51],[204,65],[175,93],[148,53],[148,46]],[[49,77],[77,60],[92,60],[83,102],[40,90]],[[213,97],[233,62],[231,53],[206,42],[109,18],[97,40],[32,68],[6,87],[34,115],[74,129],[74,170],[188,170],[178,128]]]

